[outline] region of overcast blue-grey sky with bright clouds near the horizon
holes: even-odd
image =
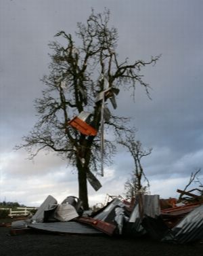
[[[129,92],[120,92],[116,109],[133,118],[143,147],[153,148],[143,161],[151,193],[177,197],[191,172],[203,168],[203,1],[0,0],[0,201],[38,206],[49,194],[58,202],[78,196],[76,173],[66,162],[45,152],[30,161],[14,146],[36,122],[33,100],[48,74],[47,44],[58,31],[74,35],[76,22],[85,22],[91,7],[110,9],[120,59],[162,54],[143,71],[152,100],[138,86],[135,103]],[[95,192],[89,186],[90,204],[123,194],[133,167],[129,153],[119,149],[98,177],[103,187]]]

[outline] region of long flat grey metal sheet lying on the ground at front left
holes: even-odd
[[[53,223],[35,223],[29,224],[28,227],[43,231],[43,232],[53,232],[60,234],[103,234],[95,228],[85,225],[82,223],[68,221],[68,222],[53,222]]]

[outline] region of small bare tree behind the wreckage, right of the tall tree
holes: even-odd
[[[120,144],[127,147],[133,157],[135,169],[131,173],[131,178],[125,183],[126,197],[128,199],[135,198],[140,191],[147,191],[150,188],[150,182],[145,175],[141,165],[141,158],[149,156],[152,149],[143,149],[140,141],[135,141],[133,135],[127,136],[125,141],[120,141]],[[146,183],[146,185],[143,185]]]

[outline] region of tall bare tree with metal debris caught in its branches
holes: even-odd
[[[100,186],[93,172],[99,174],[102,164],[101,110],[109,113],[108,99],[116,108],[114,97],[118,88],[131,88],[134,93],[138,83],[149,96],[149,85],[143,81],[140,72],[146,65],[155,64],[160,57],[131,63],[126,58],[120,62],[116,54],[118,33],[114,27],[108,27],[109,19],[109,10],[102,14],[95,14],[92,10],[86,24],[77,24],[76,41],[81,42],[78,45],[72,35],[64,31],[55,35],[59,41],[49,44],[53,51],[50,72],[42,79],[45,85],[42,97],[35,100],[39,120],[32,132],[23,137],[24,143],[17,147],[26,147],[31,158],[41,150],[55,151],[66,158],[78,171],[78,196],[84,208],[89,207],[87,180],[95,189]],[[87,116],[87,113],[88,121],[83,121],[87,122],[87,130],[93,132],[88,130],[89,133],[85,134],[84,130],[78,130],[80,124],[74,126],[76,120],[73,118],[80,114]],[[120,136],[127,130],[128,120],[110,113],[110,118],[104,120],[105,128],[111,127],[114,135]],[[102,151],[107,164],[116,148],[113,140],[105,140],[104,146]]]

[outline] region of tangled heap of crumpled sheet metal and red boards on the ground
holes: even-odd
[[[181,191],[183,192],[183,191]],[[158,195],[139,194],[127,202],[114,198],[98,211],[83,211],[83,203],[68,196],[62,204],[48,196],[32,217],[12,222],[11,234],[26,230],[59,234],[150,236],[184,244],[203,238],[203,202],[177,204]]]

